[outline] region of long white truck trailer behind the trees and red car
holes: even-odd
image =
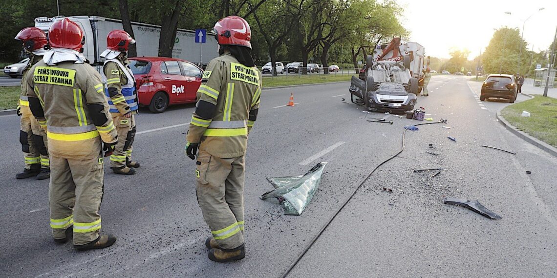
[[[99,16],[57,16],[37,17],[35,27],[48,32],[53,22],[69,18],[76,22],[85,34],[85,58],[94,66],[104,62],[100,54],[106,49],[106,36],[115,29],[124,29],[119,19]],[[160,26],[131,22],[136,41],[137,57],[158,56]],[[205,67],[211,59],[218,56],[218,43],[212,34],[207,32],[206,43],[196,43],[196,32],[187,29],[178,29],[176,32],[173,58],[180,58]]]

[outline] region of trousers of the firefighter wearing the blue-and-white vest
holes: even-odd
[[[112,118],[118,132],[118,143],[110,156],[110,168],[121,169],[126,167],[126,159],[131,161],[131,150],[135,138],[135,116],[126,118],[118,115]]]

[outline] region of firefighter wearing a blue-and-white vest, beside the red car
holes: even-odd
[[[114,30],[106,36],[106,50],[102,82],[108,98],[110,114],[118,131],[118,144],[110,156],[110,168],[114,173],[133,175],[139,162],[131,161],[131,150],[135,138],[135,117],[138,96],[135,78],[129,67],[128,48],[135,40],[123,30]]]

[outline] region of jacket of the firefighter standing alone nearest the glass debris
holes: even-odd
[[[232,54],[214,58],[197,90],[197,108],[186,140],[199,143],[199,151],[221,158],[246,154],[247,135],[256,120],[261,97],[261,72],[246,67]],[[213,117],[204,116],[202,102],[216,106]],[[255,117],[253,117],[255,111]],[[202,114],[202,115],[200,115]]]

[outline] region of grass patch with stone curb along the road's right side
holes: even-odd
[[[522,111],[530,117],[522,117]],[[535,96],[497,112],[503,125],[532,145],[557,156],[557,99]]]

